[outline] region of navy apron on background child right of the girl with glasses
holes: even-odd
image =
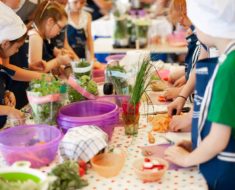
[[[67,35],[69,45],[79,58],[86,58],[86,33],[83,28],[77,29],[72,25],[67,26]]]

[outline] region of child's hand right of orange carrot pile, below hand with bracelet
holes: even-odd
[[[178,132],[178,131],[190,131],[190,127],[192,124],[192,117],[189,114],[184,115],[175,115],[172,117],[171,122],[169,124],[170,131]]]

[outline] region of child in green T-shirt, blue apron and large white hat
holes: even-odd
[[[192,147],[183,142],[169,148],[166,159],[181,166],[199,164],[209,189],[235,189],[235,14],[233,0],[188,0],[188,15],[197,36],[217,47],[219,64],[206,87]]]

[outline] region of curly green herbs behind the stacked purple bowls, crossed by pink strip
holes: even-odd
[[[91,78],[89,76],[83,75],[77,81],[78,81],[79,85],[82,88],[84,88],[86,91],[90,92],[93,95],[98,95],[98,86],[93,80],[91,80]],[[78,93],[72,87],[69,87],[68,94],[69,94],[70,102],[76,102],[76,101],[81,101],[81,100],[86,99],[84,96],[82,96],[80,93]]]

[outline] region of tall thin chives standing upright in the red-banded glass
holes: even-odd
[[[141,64],[141,67],[136,75],[135,84],[130,94],[130,103],[132,105],[137,105],[140,102],[142,95],[149,86],[152,68],[153,65],[150,62],[150,58],[144,58],[143,63]]]

